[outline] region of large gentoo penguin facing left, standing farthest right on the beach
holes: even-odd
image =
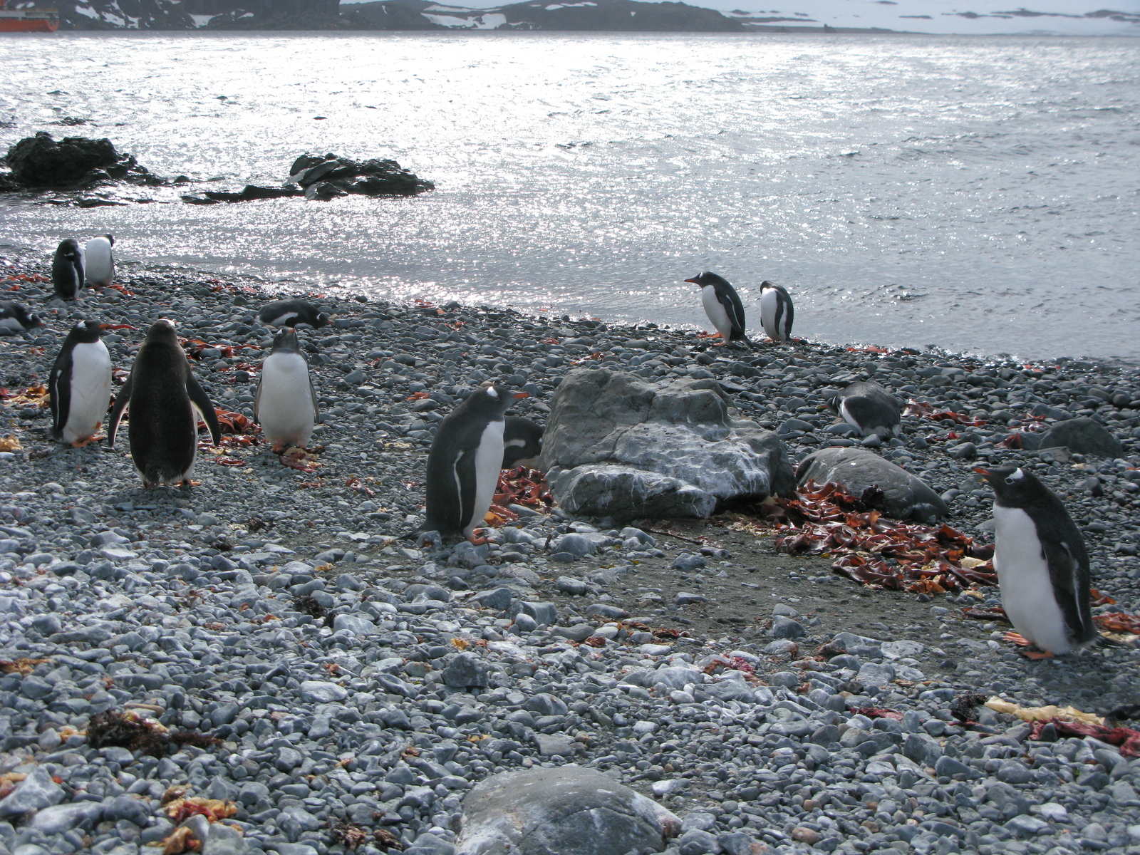
[[[1013,628],[1041,648],[1039,659],[1092,642],[1089,555],[1057,495],[1017,466],[975,469],[994,495],[994,569]],[[1010,641],[1020,640],[1010,637]]]

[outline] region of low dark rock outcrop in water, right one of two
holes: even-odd
[[[261,198],[304,196],[321,202],[336,196],[415,196],[424,190],[435,189],[435,185],[400,166],[396,161],[353,161],[335,154],[302,154],[290,168],[290,178],[280,187],[258,187],[246,185],[239,193],[204,190],[197,195],[182,196],[182,201],[196,205],[217,202],[250,202]]]

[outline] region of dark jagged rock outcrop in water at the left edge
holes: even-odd
[[[100,181],[165,185],[132,155],[115,150],[109,139],[66,137],[55,140],[47,131],[25,137],[5,157],[10,176],[0,177],[0,189],[76,189]]]

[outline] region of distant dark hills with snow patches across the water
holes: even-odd
[[[1140,35],[1140,0],[767,0],[780,9],[638,0],[60,0],[72,30],[546,30]],[[1099,2],[1113,6],[1102,8]],[[40,5],[47,5],[41,2]]]

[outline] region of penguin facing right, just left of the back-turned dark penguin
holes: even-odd
[[[106,328],[97,320],[73,326],[48,378],[55,437],[75,448],[91,441],[111,402],[111,353],[101,340]]]

